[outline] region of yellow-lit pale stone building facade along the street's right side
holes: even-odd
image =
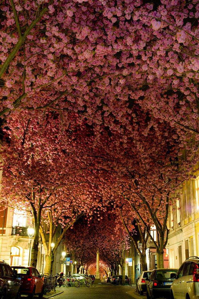
[[[169,267],[179,268],[190,256],[199,256],[199,176],[184,181],[169,211],[167,253]]]

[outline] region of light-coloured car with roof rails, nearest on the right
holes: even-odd
[[[189,257],[172,283],[171,299],[199,299],[199,257]]]

